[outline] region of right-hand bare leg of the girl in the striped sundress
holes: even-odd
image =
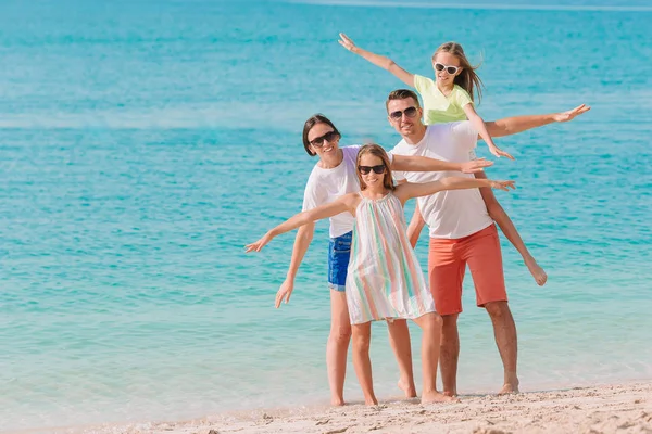
[[[439,344],[441,342],[441,317],[438,314],[426,314],[414,320],[424,331],[422,337],[422,363],[424,390],[422,403],[448,403],[457,399],[437,392],[437,363],[439,362]]]

